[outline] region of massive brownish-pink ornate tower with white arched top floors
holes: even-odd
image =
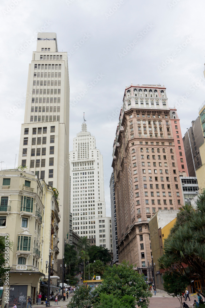
[[[164,86],[126,87],[112,166],[119,262],[146,267],[151,261],[151,217],[183,202]]]

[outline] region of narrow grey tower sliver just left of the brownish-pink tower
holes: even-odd
[[[115,178],[114,172],[112,172],[110,178],[110,204],[111,204],[111,217],[112,217],[112,235],[113,235],[113,263],[118,262],[118,250],[117,250],[117,215],[115,204]]]

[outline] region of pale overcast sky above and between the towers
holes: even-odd
[[[131,82],[164,84],[169,106],[177,106],[184,135],[205,97],[204,9],[202,0],[2,0],[2,167],[14,167],[15,154],[18,161],[25,108],[25,103],[20,106],[19,102],[25,102],[37,32],[56,32],[59,51],[67,51],[69,56],[70,151],[85,112],[88,131],[96,137],[104,158],[110,216],[113,141],[125,86]],[[92,87],[97,76],[100,80]],[[84,90],[86,95],[75,104]],[[14,107],[16,104],[20,107]]]

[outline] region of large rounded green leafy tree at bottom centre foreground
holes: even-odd
[[[146,284],[144,276],[133,270],[133,265],[123,261],[120,265],[108,266],[104,273],[104,281],[94,290],[96,296],[95,305],[99,305],[99,295],[112,294],[115,298],[121,299],[128,295],[137,300],[138,306],[146,308],[149,306],[149,297],[152,293]]]

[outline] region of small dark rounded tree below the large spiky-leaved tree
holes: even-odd
[[[174,272],[165,272],[163,275],[163,286],[164,290],[171,296],[177,297],[181,307],[182,305],[182,293],[185,292],[185,289],[190,284],[190,280],[187,276],[180,274],[177,271]]]

